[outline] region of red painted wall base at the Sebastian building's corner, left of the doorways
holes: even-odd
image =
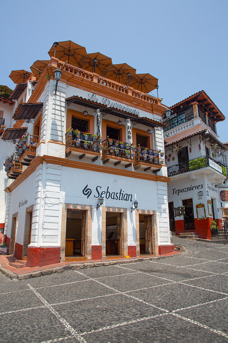
[[[26,267],[42,267],[60,263],[60,247],[28,247]]]

